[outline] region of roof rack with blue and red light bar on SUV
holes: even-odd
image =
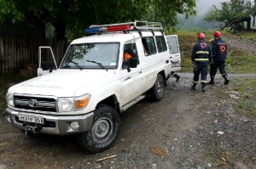
[[[131,26],[133,25],[133,26]],[[90,25],[84,29],[85,33],[99,33],[100,31],[129,31],[129,30],[163,30],[160,22],[135,21],[110,25]]]

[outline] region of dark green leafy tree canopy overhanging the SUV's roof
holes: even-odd
[[[0,0],[0,21],[23,20],[30,13],[54,25],[56,37],[73,39],[92,24],[151,19],[172,27],[177,14],[195,14],[195,5],[195,0]]]

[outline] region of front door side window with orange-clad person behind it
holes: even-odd
[[[137,59],[137,65],[139,65],[139,59],[137,55],[137,46],[135,42],[125,43],[124,46],[124,59],[122,64],[122,69],[127,69],[129,67],[129,59]]]

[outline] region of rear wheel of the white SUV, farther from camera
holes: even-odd
[[[158,74],[154,82],[154,86],[150,89],[150,97],[154,101],[160,101],[164,98],[164,79],[161,74]]]

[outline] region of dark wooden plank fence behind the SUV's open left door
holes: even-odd
[[[0,35],[0,74],[19,72],[26,64],[38,65],[40,46],[51,47],[59,65],[68,45],[66,39]],[[45,54],[44,59],[50,58],[49,52]]]

